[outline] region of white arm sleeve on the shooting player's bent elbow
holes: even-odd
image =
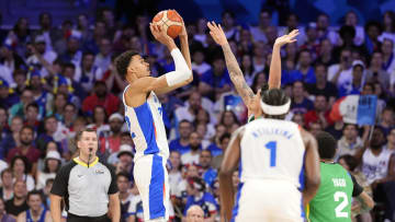
[[[166,73],[166,81],[169,86],[172,86],[190,79],[192,71],[189,69],[180,49],[174,48],[170,54],[174,60],[176,71]]]

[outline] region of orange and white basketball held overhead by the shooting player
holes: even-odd
[[[176,10],[160,11],[153,19],[154,25],[163,25],[167,34],[176,38],[182,31],[182,19]]]

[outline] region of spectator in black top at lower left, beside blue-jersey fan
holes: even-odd
[[[16,180],[13,184],[14,196],[12,199],[5,201],[5,212],[12,218],[16,217],[29,209],[26,202],[27,189],[24,180]]]

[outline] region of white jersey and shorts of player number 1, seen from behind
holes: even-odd
[[[233,221],[302,222],[304,153],[296,124],[263,118],[247,124]]]

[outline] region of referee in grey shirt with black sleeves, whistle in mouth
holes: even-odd
[[[120,222],[116,177],[113,168],[99,162],[95,155],[95,130],[77,132],[76,144],[79,155],[60,168],[50,190],[54,222],[60,222],[61,199],[66,203],[67,222]]]

